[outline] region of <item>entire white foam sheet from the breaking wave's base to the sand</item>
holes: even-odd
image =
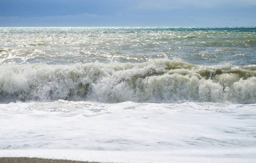
[[[250,163],[256,158],[255,106],[64,100],[0,104],[0,157]]]

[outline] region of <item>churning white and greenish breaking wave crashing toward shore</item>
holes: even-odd
[[[256,103],[256,65],[144,63],[0,65],[0,101]]]

